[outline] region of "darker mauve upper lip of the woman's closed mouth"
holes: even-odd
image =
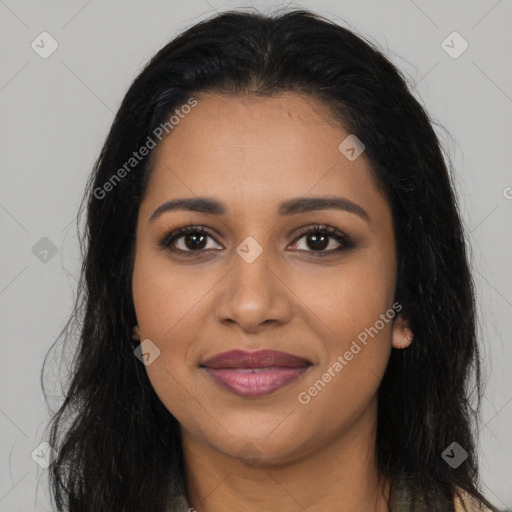
[[[258,350],[246,352],[244,350],[229,350],[221,352],[207,359],[201,366],[208,368],[269,368],[287,367],[301,368],[311,363],[302,357],[281,352],[279,350]]]

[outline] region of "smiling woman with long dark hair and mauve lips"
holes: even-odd
[[[189,28],[131,85],[84,199],[57,510],[491,507],[456,198],[371,43],[307,11]]]

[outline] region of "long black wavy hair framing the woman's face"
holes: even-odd
[[[379,473],[392,483],[408,480],[435,510],[451,504],[457,489],[485,502],[472,434],[482,394],[474,289],[437,123],[372,42],[306,10],[240,10],[190,27],[149,61],[87,184],[78,214],[86,202],[82,272],[58,338],[78,332],[78,346],[65,400],[49,425],[57,510],[163,511],[182,486],[179,424],[134,356],[132,339],[135,227],[154,153],[126,163],[148,138],[159,142],[158,127],[195,93],[285,91],[322,100],[364,142],[393,214],[395,300],[414,341],[392,351],[379,388]],[[456,469],[442,457],[452,442],[468,454]]]

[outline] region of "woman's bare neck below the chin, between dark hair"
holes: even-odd
[[[376,401],[343,435],[281,464],[248,466],[183,429],[189,504],[198,512],[387,512],[375,440]]]

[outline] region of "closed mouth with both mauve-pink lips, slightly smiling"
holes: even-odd
[[[276,350],[222,352],[200,364],[212,380],[242,397],[268,395],[304,374],[312,363]]]

